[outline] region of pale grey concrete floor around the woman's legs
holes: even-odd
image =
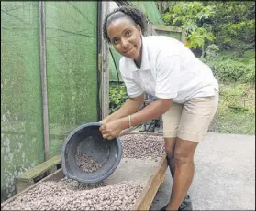
[[[172,182],[168,169],[150,210],[168,203]],[[188,193],[194,210],[255,210],[255,136],[209,132]]]

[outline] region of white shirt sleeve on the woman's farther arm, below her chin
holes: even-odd
[[[122,76],[123,81],[125,82],[129,98],[136,98],[144,93],[144,90],[142,90],[139,87],[139,85],[136,83],[136,81],[134,81],[134,79],[130,79],[122,74],[121,74],[121,76]]]

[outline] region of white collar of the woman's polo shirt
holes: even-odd
[[[142,42],[142,56],[141,56],[140,69],[136,66],[133,59],[126,58],[128,59],[128,69],[130,69],[132,72],[150,69],[149,52],[148,52],[148,47],[147,47],[145,37],[141,36],[141,42]]]

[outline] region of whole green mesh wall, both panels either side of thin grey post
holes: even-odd
[[[97,121],[97,2],[45,2],[50,157]],[[44,161],[39,2],[1,2],[1,201],[14,179]]]

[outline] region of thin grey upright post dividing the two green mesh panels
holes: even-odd
[[[44,140],[44,159],[50,159],[50,140],[49,140],[49,116],[48,116],[48,97],[47,97],[47,75],[46,75],[46,44],[45,44],[45,5],[44,1],[39,1],[39,51],[40,51],[40,72],[42,88],[42,113],[43,113],[43,140]]]

